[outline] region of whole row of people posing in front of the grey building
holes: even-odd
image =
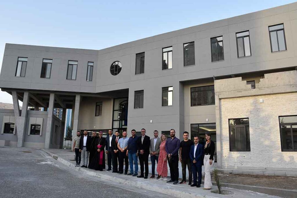
[[[122,133],[123,137],[119,137],[119,132],[113,134],[111,129],[108,130],[107,137],[102,137],[103,133],[92,132],[92,136],[88,135],[85,130],[83,136],[80,131],[74,138],[73,148],[75,151],[76,166],[82,166],[90,169],[103,171],[105,169],[105,153],[107,154],[108,168],[106,171],[114,173],[132,175],[138,178],[147,179],[149,176],[149,156],[151,157],[152,175],[155,178],[155,167],[157,162],[156,179],[167,181],[173,184],[186,184],[186,168],[189,172],[189,185],[194,187],[201,186],[202,166],[205,169],[204,188],[211,189],[211,166],[214,164],[215,144],[211,140],[211,134],[205,133],[205,143],[199,143],[199,137],[194,137],[194,142],[189,139],[189,133],[183,133],[183,139],[180,141],[175,136],[175,130],[170,130],[170,138],[165,134],[159,137],[159,132],[154,131],[154,137],[150,139],[146,135],[146,130],[141,129],[141,136],[136,136],[136,131],[131,131],[131,137],[127,137],[127,132]],[[203,157],[204,156],[204,157]],[[140,164],[140,175],[138,175],[138,159]],[[178,162],[181,162],[182,180],[178,182]],[[119,162],[119,166],[118,166]],[[124,169],[125,162],[125,169]],[[170,169],[170,180],[167,179],[168,169]],[[112,169],[111,169],[112,165]],[[133,167],[134,165],[134,167]],[[128,168],[130,166],[130,172]],[[197,177],[198,176],[198,177]],[[192,180],[193,179],[193,180]]]

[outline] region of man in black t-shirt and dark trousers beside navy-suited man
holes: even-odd
[[[183,180],[180,184],[187,183],[186,180],[186,167],[188,166],[189,171],[189,185],[192,184],[192,167],[191,167],[191,160],[189,157],[191,145],[193,145],[193,141],[189,139],[189,133],[187,131],[184,132],[184,140],[181,141],[181,146],[179,149],[179,161],[181,162]]]

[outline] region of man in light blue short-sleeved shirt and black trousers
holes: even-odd
[[[119,149],[119,174],[123,174],[124,170],[124,160],[125,160],[125,175],[127,175],[129,162],[128,162],[128,156],[127,153],[127,146],[128,146],[128,140],[127,132],[123,132],[123,137],[119,139],[118,142],[118,149]]]

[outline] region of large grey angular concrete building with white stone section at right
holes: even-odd
[[[219,168],[296,173],[296,10],[287,4],[102,50],[6,44],[0,87],[15,109],[0,114],[0,140],[56,148],[65,115],[59,125],[53,108],[68,108],[73,135],[173,128],[203,140],[209,131]],[[37,144],[28,130],[39,123]]]

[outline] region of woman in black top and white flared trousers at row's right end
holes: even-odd
[[[210,132],[205,133],[205,145],[204,145],[204,190],[209,190],[212,187],[211,183],[211,175],[210,175],[210,170],[211,167],[214,165],[214,150],[215,150],[215,145],[214,141],[210,139]]]

